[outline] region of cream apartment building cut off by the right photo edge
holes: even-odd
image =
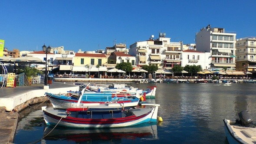
[[[236,70],[256,71],[256,37],[236,39]]]

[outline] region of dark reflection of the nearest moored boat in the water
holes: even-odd
[[[63,127],[46,127],[44,132],[44,140],[57,141],[73,141],[81,142],[101,142],[110,141],[112,143],[122,143],[123,139],[142,138],[144,140],[158,139],[157,124],[140,124],[138,126],[128,128],[111,128],[111,129],[74,129]]]

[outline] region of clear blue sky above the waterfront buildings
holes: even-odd
[[[195,43],[208,24],[256,36],[256,0],[1,0],[0,39],[8,50],[92,51],[145,41],[166,33]]]

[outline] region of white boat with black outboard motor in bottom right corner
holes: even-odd
[[[230,144],[255,144],[256,125],[246,111],[239,114],[240,120],[230,121],[224,119],[224,129]]]

